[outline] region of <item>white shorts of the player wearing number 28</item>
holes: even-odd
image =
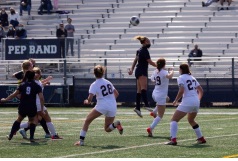
[[[115,117],[117,113],[116,104],[97,104],[95,109],[106,117]]]

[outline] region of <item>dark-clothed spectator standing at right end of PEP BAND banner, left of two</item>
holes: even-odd
[[[60,39],[61,57],[65,58],[65,38],[67,37],[67,30],[64,28],[63,23],[59,24],[59,28],[56,30],[56,37]]]

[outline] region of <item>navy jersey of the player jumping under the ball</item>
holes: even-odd
[[[137,50],[136,56],[138,57],[138,63],[136,66],[135,77],[148,76],[148,62],[150,59],[150,53],[147,47],[141,47]]]

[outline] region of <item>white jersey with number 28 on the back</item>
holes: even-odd
[[[97,104],[115,104],[114,86],[104,78],[96,79],[89,88],[89,93],[96,95]]]

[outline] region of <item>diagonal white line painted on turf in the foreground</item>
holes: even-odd
[[[230,136],[237,136],[237,135],[238,135],[238,134],[212,136],[212,137],[206,137],[206,139],[213,139],[213,138],[219,138],[219,137],[230,137]],[[178,143],[180,143],[180,142],[185,142],[185,141],[190,141],[190,140],[194,140],[194,138],[193,138],[193,139],[179,140]],[[107,153],[107,152],[121,151],[121,150],[127,150],[127,149],[136,149],[136,148],[142,148],[142,147],[148,147],[148,146],[154,146],[154,145],[162,145],[162,144],[164,144],[164,143],[165,143],[165,142],[163,142],[163,143],[145,144],[145,145],[139,145],[139,146],[131,146],[131,147],[119,148],[119,149],[96,151],[96,152],[91,152],[91,153],[71,154],[71,155],[61,156],[61,157],[57,157],[57,158],[67,158],[67,157],[75,157],[75,156],[84,156],[84,155],[92,155],[92,154],[99,154],[99,153]],[[165,145],[165,146],[171,146],[171,145]]]

